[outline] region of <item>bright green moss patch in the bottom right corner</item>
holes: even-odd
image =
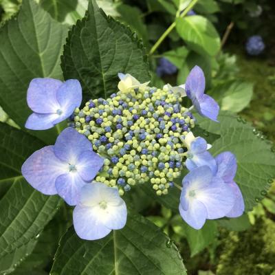
[[[275,270],[275,222],[259,219],[245,232],[224,240],[217,275],[270,275]]]

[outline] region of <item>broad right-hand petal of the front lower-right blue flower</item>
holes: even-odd
[[[211,184],[196,192],[196,198],[206,206],[207,219],[224,217],[232,209],[235,195],[229,184],[215,177]]]

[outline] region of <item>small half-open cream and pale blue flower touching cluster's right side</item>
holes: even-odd
[[[184,144],[188,149],[186,159],[186,167],[188,170],[208,165],[214,173],[216,172],[217,164],[214,157],[212,157],[212,155],[207,151],[211,148],[211,145],[207,144],[203,137],[195,137],[192,132],[189,132],[185,136]]]

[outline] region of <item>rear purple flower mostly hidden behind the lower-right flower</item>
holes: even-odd
[[[234,182],[236,175],[236,157],[231,152],[223,152],[215,157],[217,162],[216,177],[221,178],[225,184],[230,186],[235,195],[234,206],[225,216],[236,218],[243,214],[245,204],[243,202],[243,195],[239,186]]]

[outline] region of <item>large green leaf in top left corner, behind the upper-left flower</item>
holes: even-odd
[[[0,30],[0,105],[22,129],[32,113],[26,101],[32,78],[62,78],[59,65],[67,28],[33,0],[25,0],[17,17]],[[32,131],[53,142],[56,129]]]

